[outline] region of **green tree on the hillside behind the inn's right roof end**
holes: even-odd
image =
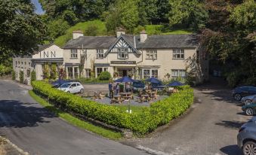
[[[187,28],[199,30],[205,27],[208,12],[198,0],[171,0],[168,14],[169,25],[185,24]]]

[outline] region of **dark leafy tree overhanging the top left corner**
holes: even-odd
[[[27,0],[0,2],[0,51],[13,56],[33,52],[45,40],[45,24]]]

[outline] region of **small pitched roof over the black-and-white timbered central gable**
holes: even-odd
[[[109,49],[106,51],[105,56],[115,47],[115,45],[121,40],[123,39],[128,45],[129,47],[131,47],[131,49],[137,53],[138,55],[140,55],[140,51],[138,51],[135,47],[134,47],[134,42],[136,42],[136,39],[134,41],[134,35],[120,35],[119,38],[116,39],[115,42],[113,42],[113,44],[109,47]]]

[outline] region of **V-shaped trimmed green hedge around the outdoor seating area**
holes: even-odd
[[[32,87],[35,93],[62,108],[100,120],[103,123],[131,129],[137,135],[145,135],[152,132],[157,126],[168,123],[183,114],[193,103],[193,90],[187,86],[180,87],[179,93],[174,93],[166,99],[154,102],[150,108],[143,108],[140,113],[128,114],[114,106],[103,105],[56,90],[43,81],[33,81]]]

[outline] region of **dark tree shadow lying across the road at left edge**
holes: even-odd
[[[45,118],[57,117],[45,108],[17,100],[0,100],[0,127],[33,127],[38,123],[49,123]]]

